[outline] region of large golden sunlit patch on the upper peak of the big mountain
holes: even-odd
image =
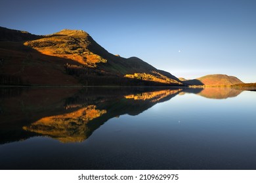
[[[72,59],[86,67],[96,67],[96,63],[106,63],[106,59],[89,51],[88,36],[84,31],[65,29],[41,39],[24,42],[24,45],[34,48],[41,54]]]

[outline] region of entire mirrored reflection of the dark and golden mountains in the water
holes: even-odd
[[[177,94],[235,97],[228,88],[1,88],[0,142],[47,136],[83,142],[111,118],[137,115]]]

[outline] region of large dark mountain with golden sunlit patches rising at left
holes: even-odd
[[[139,58],[110,54],[81,30],[32,35],[0,27],[0,84],[183,86]]]

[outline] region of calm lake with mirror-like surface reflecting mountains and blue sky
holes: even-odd
[[[256,92],[0,88],[0,169],[256,169]]]

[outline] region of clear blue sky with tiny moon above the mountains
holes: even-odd
[[[177,77],[256,82],[253,0],[1,0],[0,26],[37,35],[83,29],[108,52]]]

